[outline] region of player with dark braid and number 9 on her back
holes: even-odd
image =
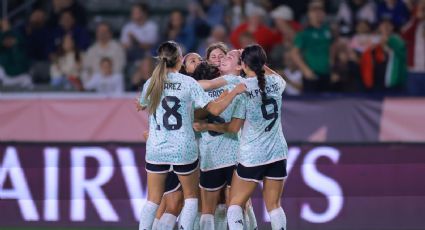
[[[263,199],[273,230],[286,229],[286,216],[280,206],[286,178],[288,147],[281,126],[282,93],[286,82],[278,75],[265,76],[267,56],[258,45],[242,52],[242,68],[247,79],[243,95],[242,119],[226,124],[208,124],[208,130],[236,133],[242,127],[238,165],[230,191],[227,218],[230,230],[243,229],[246,201],[257,183],[263,182]]]

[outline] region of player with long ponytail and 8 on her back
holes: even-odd
[[[158,55],[159,64],[146,82],[140,101],[149,111],[149,138],[148,201],[142,208],[139,229],[151,229],[169,171],[178,175],[185,199],[179,229],[192,229],[198,211],[199,181],[193,173],[198,166],[198,151],[192,129],[192,105],[219,115],[237,94],[245,91],[245,86],[239,84],[219,101],[213,101],[195,80],[178,73],[183,57],[175,42],[162,43]]]

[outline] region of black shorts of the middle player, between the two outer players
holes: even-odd
[[[210,171],[201,170],[199,187],[213,192],[222,189],[226,185],[230,186],[232,183],[232,176],[234,171],[234,165]]]

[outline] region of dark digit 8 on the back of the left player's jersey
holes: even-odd
[[[170,107],[168,102],[174,102],[173,106]],[[162,123],[167,130],[178,130],[182,127],[182,115],[178,112],[180,107],[180,99],[175,96],[166,96],[162,100],[162,108],[165,110]],[[176,124],[170,124],[169,120],[171,116],[176,118]]]

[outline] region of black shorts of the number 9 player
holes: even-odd
[[[286,159],[254,167],[245,167],[242,164],[238,164],[236,173],[242,180],[257,183],[263,181],[264,178],[283,180],[287,176]]]

